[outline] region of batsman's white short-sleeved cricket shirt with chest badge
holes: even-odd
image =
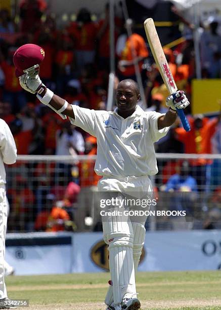
[[[158,172],[154,142],[166,135],[169,127],[158,130],[157,120],[163,115],[146,112],[137,106],[135,112],[123,119],[112,111],[96,111],[72,105],[78,126],[97,137],[98,175],[127,177],[154,175]]]

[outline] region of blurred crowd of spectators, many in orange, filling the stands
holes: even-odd
[[[191,81],[196,77],[192,35],[194,25],[180,18],[179,12],[174,7],[171,10],[181,23],[186,24],[189,31],[184,42],[171,49],[165,48],[164,52],[178,88],[183,89],[191,99]],[[7,9],[0,11],[0,117],[11,128],[18,154],[72,154],[73,157],[77,154],[96,154],[97,146],[94,137],[63,121],[50,108],[43,106],[34,95],[25,93],[21,89],[19,80],[15,77],[13,55],[19,46],[26,43],[41,46],[45,50],[45,59],[40,65],[43,83],[69,103],[91,109],[106,109],[110,58],[109,6],[105,6],[103,16],[101,18],[98,16],[96,21],[92,20],[89,10],[82,8],[77,12],[75,21],[58,27],[55,17],[48,14],[45,0],[23,0],[19,6],[19,18],[20,22],[15,23],[15,16],[12,16]],[[127,32],[128,27],[131,31],[130,35]],[[219,28],[220,24],[214,18],[210,19],[207,28],[201,27],[201,72],[204,79],[221,78]],[[134,62],[136,62],[141,72],[147,110],[165,112],[166,88],[153,62],[145,38],[136,32],[136,24],[131,21],[125,23],[122,16],[116,15],[114,35],[115,85],[125,78],[136,79],[134,68]],[[169,37],[167,42],[170,42]],[[156,151],[200,154],[211,153],[215,149],[215,152],[220,153],[219,117],[213,119],[205,118],[203,115],[193,117],[191,105],[186,112],[191,123],[191,132],[186,133],[180,127],[178,120],[169,134],[156,143]],[[206,186],[206,167],[210,164],[200,159],[190,163],[192,168],[194,167],[192,171],[194,171],[198,190]],[[44,174],[48,171],[45,171],[46,167],[42,165],[44,164],[38,164],[34,170],[39,180],[43,176],[39,171]],[[79,163],[76,160],[74,164],[57,163],[56,165],[57,171],[61,170],[63,173],[65,169],[67,171],[65,172],[68,176],[66,187],[69,182],[79,186],[96,185],[99,179],[93,171],[93,161]],[[162,167],[164,171],[168,167],[172,171],[173,165],[173,162],[167,162],[163,163]],[[20,180],[21,186],[23,183]],[[42,204],[39,197],[41,188],[43,191],[46,183],[47,176],[38,182],[37,196],[24,194],[28,186],[23,184],[22,197],[29,197],[26,206],[28,203],[33,203],[33,200],[37,205]],[[160,183],[159,180],[158,183]],[[36,190],[34,193],[36,194]],[[10,195],[13,203],[12,197],[16,195],[9,191]],[[54,195],[53,190],[47,191],[46,195]],[[19,195],[16,197],[18,198]],[[13,205],[16,203],[14,202]],[[47,209],[44,212],[49,214],[51,211]],[[70,220],[68,213],[65,219]],[[38,227],[37,223],[35,226]]]

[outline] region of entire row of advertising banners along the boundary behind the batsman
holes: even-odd
[[[6,260],[16,275],[109,269],[102,232],[8,234],[6,245]],[[139,271],[215,269],[221,269],[221,230],[146,233]]]

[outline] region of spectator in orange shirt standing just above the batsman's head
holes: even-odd
[[[126,27],[129,27],[130,25],[132,25],[131,20],[127,22]],[[118,61],[119,80],[136,80],[134,66],[135,62],[138,63],[139,69],[142,71],[144,59],[149,55],[143,37],[140,34],[134,33],[132,26],[131,30],[133,33],[127,38],[124,49],[122,50],[120,59]]]

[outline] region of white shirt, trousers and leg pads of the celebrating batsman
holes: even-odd
[[[95,111],[72,105],[75,119],[70,121],[97,137],[95,172],[102,175],[99,191],[117,191],[136,197],[152,191],[149,175],[158,172],[154,142],[165,136],[169,127],[158,130],[161,113],[137,106],[126,119],[117,109]],[[102,218],[104,240],[109,245],[109,265],[113,285],[105,303],[118,305],[124,297],[136,297],[135,273],[145,239],[145,220],[119,216]]]

